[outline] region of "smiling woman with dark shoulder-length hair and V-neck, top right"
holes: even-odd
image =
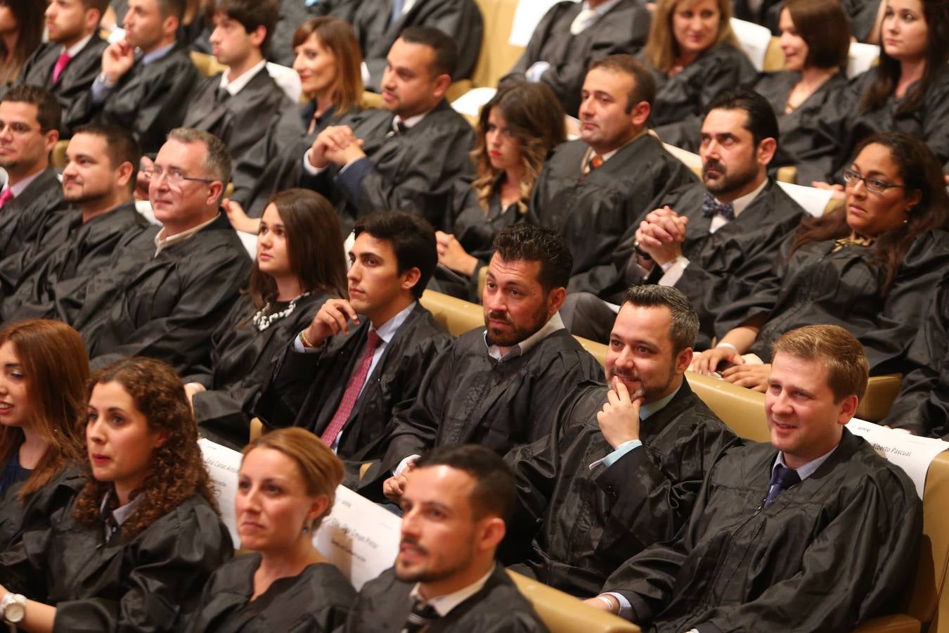
[[[809,184],[830,166],[822,167],[819,157],[827,156],[835,140],[818,120],[847,87],[850,30],[837,0],[788,0],[779,26],[786,69],[763,73],[753,87],[771,103],[781,128],[770,167],[797,166],[797,181]]]

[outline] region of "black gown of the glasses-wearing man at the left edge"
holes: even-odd
[[[48,168],[0,209],[0,258],[23,251],[42,238],[40,229],[62,205],[63,185],[56,172]]]

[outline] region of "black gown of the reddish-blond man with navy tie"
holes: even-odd
[[[679,538],[606,581],[652,621],[643,630],[847,631],[897,609],[922,531],[909,477],[844,429],[813,475],[762,508],[776,455],[727,451]]]

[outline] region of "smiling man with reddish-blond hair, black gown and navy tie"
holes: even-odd
[[[647,631],[846,631],[898,608],[922,504],[902,470],[844,427],[866,389],[839,326],[774,344],[771,444],[727,449],[679,537],[645,549],[590,605]]]

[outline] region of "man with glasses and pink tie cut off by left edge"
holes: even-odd
[[[49,166],[59,140],[61,108],[45,88],[15,85],[0,101],[0,258],[25,249],[63,201]]]

